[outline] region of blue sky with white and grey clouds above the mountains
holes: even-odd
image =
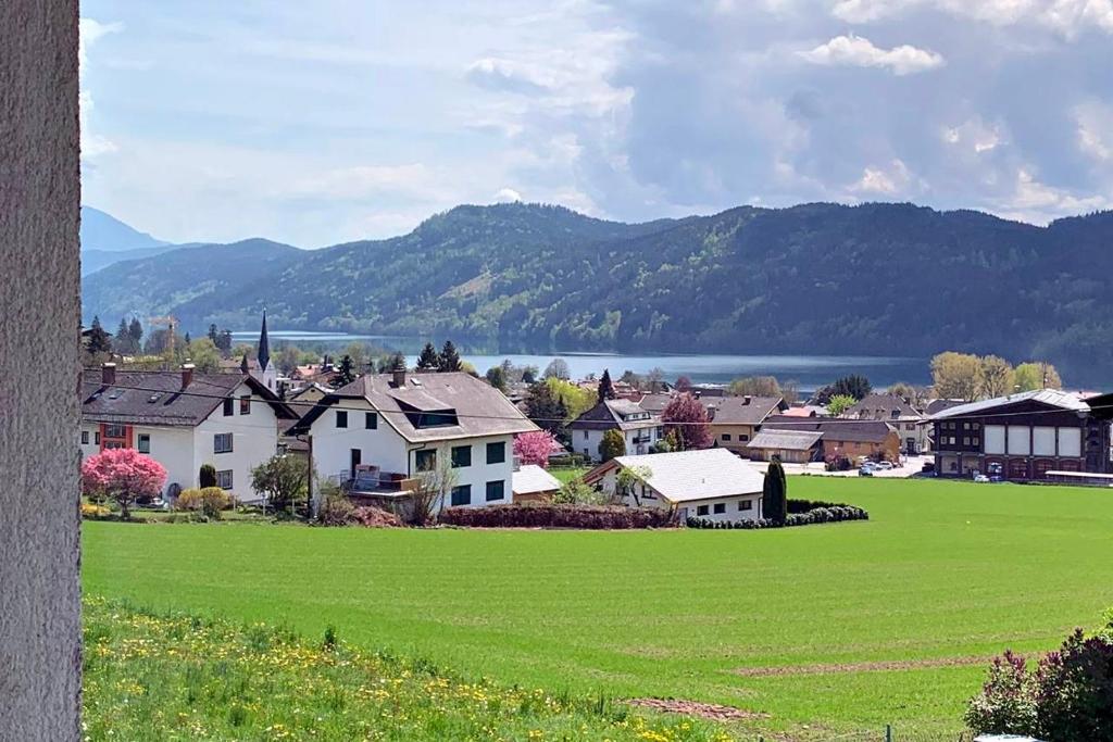
[[[1113,0],[83,0],[83,202],[315,248],[457,204],[623,221],[1113,208]]]

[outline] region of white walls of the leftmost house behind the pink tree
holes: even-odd
[[[250,399],[246,406],[244,397]],[[229,405],[220,404],[196,426],[127,425],[131,447],[166,469],[164,493],[175,484],[181,489],[197,487],[201,465],[211,464],[218,472],[218,483],[230,494],[245,502],[257,499],[252,489],[252,469],[277,452],[278,421],[270,405],[253,394],[247,384],[237,386],[229,398],[230,415],[224,414]],[[82,421],[82,457],[100,453],[102,429],[100,423]],[[230,452],[217,453],[217,435],[230,435]]]

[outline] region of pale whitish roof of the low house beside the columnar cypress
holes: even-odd
[[[584,476],[598,482],[614,467],[643,469],[644,483],[670,503],[761,494],[765,475],[726,448],[619,456]]]

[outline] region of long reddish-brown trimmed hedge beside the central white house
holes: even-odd
[[[450,507],[441,523],[472,528],[668,528],[678,525],[676,514],[658,507],[622,505],[572,505],[528,503],[490,507]]]

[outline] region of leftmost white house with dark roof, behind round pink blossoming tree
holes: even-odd
[[[278,419],[296,415],[246,374],[117,370],[105,364],[81,379],[81,456],[135,448],[166,468],[166,493],[199,485],[211,464],[217,484],[256,499],[252,469],[275,455]]]

